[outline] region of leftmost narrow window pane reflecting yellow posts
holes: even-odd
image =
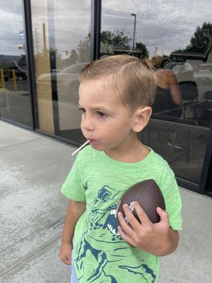
[[[22,2],[1,1],[0,116],[32,127]]]

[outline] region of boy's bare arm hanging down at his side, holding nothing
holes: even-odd
[[[71,200],[66,212],[66,220],[61,239],[61,248],[59,251],[59,258],[65,264],[71,264],[71,250],[73,233],[76,222],[86,210],[86,202],[75,202]]]

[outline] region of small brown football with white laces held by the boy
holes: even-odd
[[[146,212],[151,222],[158,223],[160,221],[160,216],[158,215],[156,208],[160,207],[161,209],[165,210],[165,201],[160,188],[154,180],[144,180],[129,187],[129,189],[124,192],[124,195],[122,195],[117,206],[117,213],[122,212],[124,218],[126,219],[123,204],[128,204],[131,212],[141,223],[139,216],[136,213],[136,209],[134,209],[133,202],[139,202],[139,204],[141,204],[141,207],[143,208],[144,212]],[[120,225],[118,218],[117,221],[118,225]]]

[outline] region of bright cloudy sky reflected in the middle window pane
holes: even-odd
[[[49,45],[57,48],[62,57],[90,33],[90,0],[33,0],[32,16],[33,36],[36,28],[39,49],[43,41],[42,23],[48,22]]]

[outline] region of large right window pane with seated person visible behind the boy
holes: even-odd
[[[139,134],[175,174],[199,183],[212,117],[212,3],[102,1],[100,56],[131,54],[153,64],[153,115]]]

